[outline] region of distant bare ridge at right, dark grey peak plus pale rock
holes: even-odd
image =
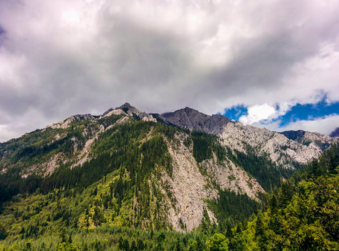
[[[222,115],[206,115],[195,109],[184,108],[162,114],[162,119],[189,130],[199,130],[218,135],[220,143],[241,153],[268,155],[272,162],[294,169],[308,163],[338,139],[317,132],[271,132],[265,128],[244,126]]]

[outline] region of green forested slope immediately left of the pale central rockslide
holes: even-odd
[[[100,123],[107,122],[107,126],[114,120]],[[9,227],[0,228],[0,237],[6,243],[17,243],[18,239],[44,238],[61,228],[166,229],[162,200],[170,194],[163,195],[152,176],[163,171],[172,175],[172,159],[166,144],[169,139],[165,135],[174,137],[174,132],[170,126],[130,121],[101,133],[91,146],[91,159],[73,169],[70,169],[73,162],[67,162],[45,178],[36,175],[21,178],[16,169],[8,169],[0,175],[6,181],[0,183],[6,188],[0,193],[3,200],[12,198],[12,201],[4,204],[0,226]],[[74,248],[64,238],[60,245],[53,243],[54,250]],[[99,243],[103,246],[102,241]],[[98,245],[93,244],[96,248]],[[137,239],[135,245],[133,242],[128,245],[140,246],[141,250],[146,247],[146,243]],[[89,243],[75,245],[85,250],[86,247],[91,250]]]

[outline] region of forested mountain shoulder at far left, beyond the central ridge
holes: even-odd
[[[46,179],[41,178],[44,173],[41,165],[56,156],[73,158],[82,151],[86,140],[92,137],[96,130],[98,130],[96,121],[73,121],[68,128],[36,130],[1,144],[0,153],[6,154],[6,158],[0,158],[0,166],[6,169],[6,173],[0,174],[0,204],[18,193],[31,193],[41,186],[44,186],[45,192],[46,185],[47,189],[68,185],[69,178],[62,184],[55,185],[50,182],[46,184]],[[68,163],[66,169],[72,164]],[[65,169],[62,164],[60,166],[60,169]],[[31,167],[34,168],[29,170],[30,175],[22,178],[22,172]]]

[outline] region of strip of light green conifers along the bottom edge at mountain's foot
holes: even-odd
[[[208,236],[213,231],[206,232]],[[59,233],[31,240],[17,240],[12,245],[2,245],[3,251],[9,250],[178,250],[204,251],[209,237],[201,231],[188,234],[165,230],[141,230],[127,227],[98,227],[96,229],[60,229]],[[214,240],[215,238],[213,238]],[[209,249],[210,250],[210,249]]]

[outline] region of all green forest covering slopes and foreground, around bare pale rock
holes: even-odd
[[[0,250],[339,250],[338,145],[292,174],[204,132],[144,121],[107,128],[120,118],[37,130],[1,144],[11,155],[1,160],[8,172],[0,175]],[[107,130],[82,165],[62,162],[47,176],[18,172],[55,154],[73,155],[73,142],[79,149],[86,142],[83,129],[98,126]],[[186,232],[182,224],[174,231],[163,206],[172,191],[164,195],[157,182],[161,172],[172,176],[166,142],[178,131],[188,135],[184,144],[197,163],[214,155],[232,160],[268,192],[250,199],[219,190],[217,200],[206,201],[218,224],[204,211],[197,229]]]

